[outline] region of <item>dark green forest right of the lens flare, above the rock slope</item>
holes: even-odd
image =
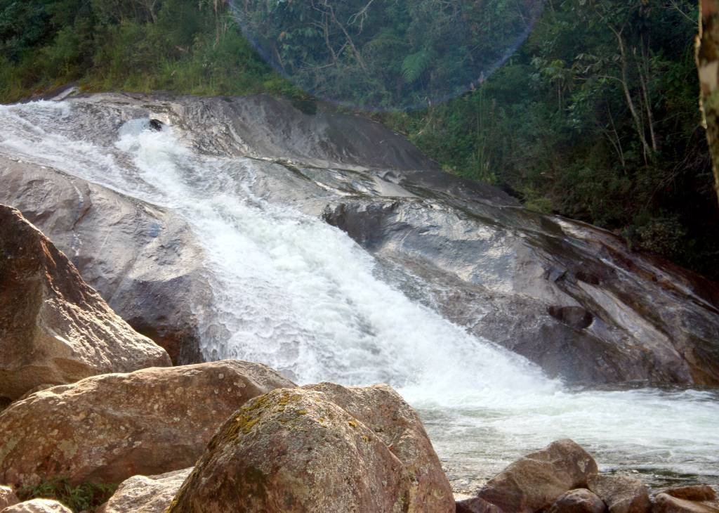
[[[477,91],[385,122],[461,176],[713,278],[719,211],[697,111],[695,0],[546,4]]]

